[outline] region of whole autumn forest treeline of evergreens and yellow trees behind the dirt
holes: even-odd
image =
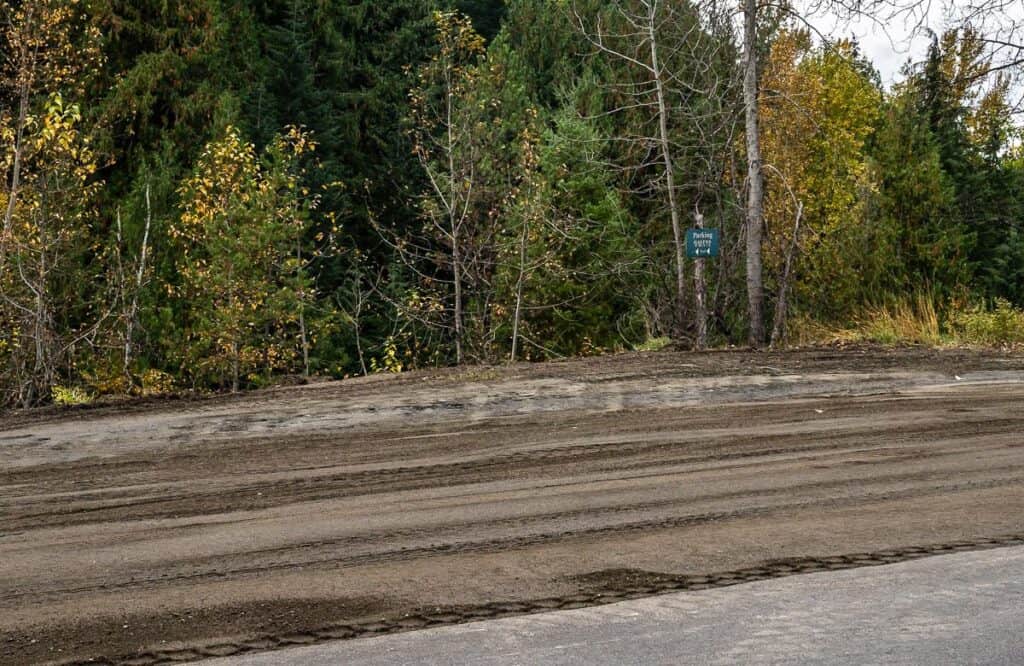
[[[0,0],[0,405],[1016,321],[985,4],[887,89],[755,0]]]

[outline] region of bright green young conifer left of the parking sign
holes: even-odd
[[[612,186],[613,173],[600,165],[606,148],[593,125],[567,112],[556,116],[536,149],[527,145],[537,151],[536,163],[521,167],[527,175],[503,237],[510,290],[520,259],[527,268],[523,334],[535,341],[527,358],[613,349],[644,335],[637,327],[643,249],[635,219]],[[497,300],[512,306],[511,294]]]

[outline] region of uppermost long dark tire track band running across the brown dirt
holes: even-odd
[[[1024,429],[1024,416],[997,420],[964,421],[956,424],[907,425],[887,430],[884,436],[889,440],[887,446],[891,447],[894,443],[903,441],[911,443],[919,440],[929,441],[931,439],[934,441],[934,438],[939,435],[943,440],[977,435],[980,425],[984,425],[985,433],[988,435],[1019,432]],[[727,470],[739,465],[730,467],[715,463],[750,461],[751,465],[757,465],[764,464],[764,462],[774,462],[775,459],[783,456],[803,455],[808,459],[814,459],[824,454],[843,453],[851,450],[867,452],[871,450],[870,445],[865,442],[867,435],[879,438],[878,428],[864,427],[833,432],[829,433],[830,442],[828,444],[813,442],[798,446],[791,444],[794,440],[792,434],[749,438],[722,435],[721,441],[726,442],[729,448],[733,449],[732,451],[712,450],[716,442],[714,438],[701,443],[687,441],[602,443],[513,453],[453,463],[341,472],[296,481],[248,482],[237,485],[234,488],[219,488],[203,492],[181,493],[179,486],[173,486],[168,489],[174,494],[173,497],[152,497],[154,493],[152,487],[144,488],[141,497],[131,494],[130,491],[118,490],[114,491],[113,496],[110,494],[101,497],[78,495],[74,497],[77,504],[70,505],[54,505],[50,499],[44,496],[36,502],[20,502],[19,508],[22,510],[10,516],[5,515],[6,511],[0,511],[0,530],[13,532],[124,519],[123,513],[126,511],[130,511],[132,519],[135,521],[157,519],[203,515],[222,510],[283,506],[299,502],[367,495],[374,492],[391,493],[453,485],[479,484],[495,480],[507,480],[516,475],[528,475],[531,478],[550,477],[563,474],[563,467],[570,464],[579,468],[585,464],[609,463],[611,469],[623,471],[655,465],[664,467],[715,465],[715,469]],[[790,444],[790,446],[779,446],[780,444]],[[693,450],[700,449],[709,450],[709,452],[692,453]],[[935,456],[938,453],[940,452],[931,451],[928,455]],[[631,458],[643,456],[652,459],[636,463],[629,462]],[[791,462],[796,462],[796,460]],[[598,469],[600,468],[595,470]],[[701,467],[694,467],[688,469],[687,472],[705,470]],[[262,493],[262,497],[265,499],[254,500],[257,493]],[[16,499],[16,496],[13,499]],[[114,502],[117,499],[122,501]],[[89,506],[86,504],[89,501],[102,502],[102,504]],[[32,512],[31,507],[35,504],[53,508],[48,511]]]

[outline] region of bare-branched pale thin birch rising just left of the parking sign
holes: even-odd
[[[662,197],[672,232],[673,334],[682,338],[693,330],[697,346],[707,342],[707,322],[696,290],[699,321],[686,321],[684,211],[706,185],[721,181],[734,92],[731,64],[723,58],[731,47],[729,12],[708,9],[701,15],[696,5],[678,0],[622,1],[590,12],[573,5],[577,27],[595,55],[628,73],[605,83],[613,100],[605,114],[638,119],[612,140],[632,148],[626,154],[633,161],[623,167],[651,178],[647,189]]]

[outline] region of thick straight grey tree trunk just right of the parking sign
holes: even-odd
[[[764,282],[761,259],[764,227],[764,174],[761,170],[761,129],[758,119],[758,0],[743,0],[743,106],[746,111],[746,297],[750,345],[764,344]]]

